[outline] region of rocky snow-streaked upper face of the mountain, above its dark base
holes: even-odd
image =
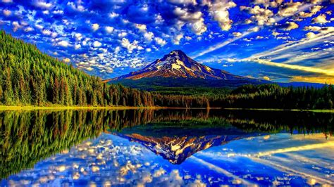
[[[153,77],[173,77],[185,79],[216,79],[216,80],[240,80],[247,79],[237,75],[232,75],[224,70],[202,65],[188,57],[183,51],[175,50],[166,54],[163,58],[155,60],[142,70],[130,72],[127,75],[116,77],[119,79],[142,79]],[[107,80],[108,82],[108,80]]]

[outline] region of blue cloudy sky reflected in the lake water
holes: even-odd
[[[178,155],[194,146],[171,145]],[[178,165],[147,146],[102,133],[9,176],[1,186],[334,185],[334,141],[323,134],[249,136],[208,145]]]

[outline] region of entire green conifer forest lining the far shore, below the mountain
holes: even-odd
[[[247,84],[234,90],[199,87],[149,92],[107,84],[4,31],[0,31],[0,70],[0,105],[333,108],[332,85],[315,89]]]

